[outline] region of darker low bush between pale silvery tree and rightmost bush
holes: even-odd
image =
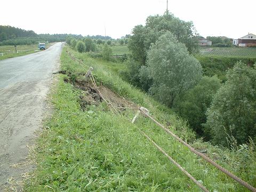
[[[206,110],[220,86],[220,79],[217,76],[204,76],[193,89],[175,103],[175,110],[188,120],[189,125],[200,136],[203,136],[202,124],[206,122]]]

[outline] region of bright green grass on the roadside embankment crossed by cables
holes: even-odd
[[[38,166],[33,177],[27,180],[25,191],[200,191],[143,137],[139,129],[211,191],[245,191],[242,186],[190,153],[149,119],[140,116],[135,124],[131,124],[130,119],[135,114],[133,110],[117,115],[105,103],[100,103],[82,111],[79,105],[81,90],[63,80],[78,78],[87,69],[71,60],[66,49],[61,54],[61,68],[69,73],[69,77],[60,75],[55,85],[52,93],[55,112],[37,141]],[[73,53],[86,65],[94,67],[93,74],[98,84],[148,108],[153,116],[169,124],[168,128],[182,139],[194,141],[194,133],[186,122],[147,94],[122,81],[116,75],[116,69],[110,67],[113,63]],[[246,156],[249,165],[242,164],[241,154],[209,147],[209,144],[201,141],[194,144],[197,148],[207,146],[207,155],[214,154],[214,159],[222,166],[255,183],[255,167],[252,168],[255,163],[250,163],[254,162],[252,156],[249,156],[252,159]],[[245,165],[249,172],[241,171]]]

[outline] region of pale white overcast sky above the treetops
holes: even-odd
[[[166,0],[13,0],[1,1],[0,25],[10,25],[37,34],[106,35],[120,38],[136,25],[145,25],[149,15],[163,14]],[[169,11],[193,21],[206,36],[239,38],[256,34],[256,0],[169,0]]]

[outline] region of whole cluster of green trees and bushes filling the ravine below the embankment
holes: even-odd
[[[193,23],[169,12],[148,17],[145,26],[133,28],[124,78],[187,119],[214,145],[255,141],[255,59],[227,59],[221,66],[212,63],[220,58],[199,62],[195,32]]]

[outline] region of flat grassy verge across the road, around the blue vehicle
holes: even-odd
[[[46,45],[47,47],[53,45],[54,43],[49,43]],[[0,60],[7,59],[7,58],[13,58],[18,57],[30,53],[34,53],[35,51],[38,51],[38,44],[33,45],[17,45],[17,51],[15,52],[15,48],[13,45],[2,45],[0,46]],[[3,54],[2,54],[3,53]]]

